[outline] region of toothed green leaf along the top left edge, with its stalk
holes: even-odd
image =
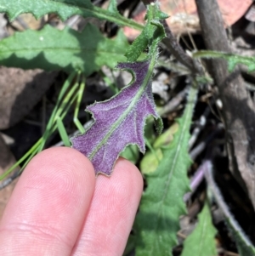
[[[79,14],[84,18],[95,17],[100,20],[109,20],[119,26],[143,29],[143,26],[118,13],[116,0],[111,0],[109,9],[96,7],[89,0],[1,0],[0,13],[7,13],[10,20],[14,20],[19,14],[24,13],[31,13],[37,19],[44,14],[55,13],[61,20]]]

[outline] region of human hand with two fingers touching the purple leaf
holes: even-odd
[[[111,178],[95,178],[80,152],[42,151],[3,213],[1,255],[122,255],[142,191],[139,170],[123,158]]]

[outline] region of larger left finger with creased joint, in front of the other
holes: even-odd
[[[0,223],[2,255],[70,255],[94,193],[94,168],[65,147],[26,167]]]

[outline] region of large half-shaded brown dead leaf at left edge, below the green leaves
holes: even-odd
[[[54,82],[57,72],[0,67],[0,129],[25,117]]]

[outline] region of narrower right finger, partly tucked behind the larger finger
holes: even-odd
[[[139,170],[121,158],[111,178],[99,175],[93,201],[72,255],[122,255],[143,191]]]

